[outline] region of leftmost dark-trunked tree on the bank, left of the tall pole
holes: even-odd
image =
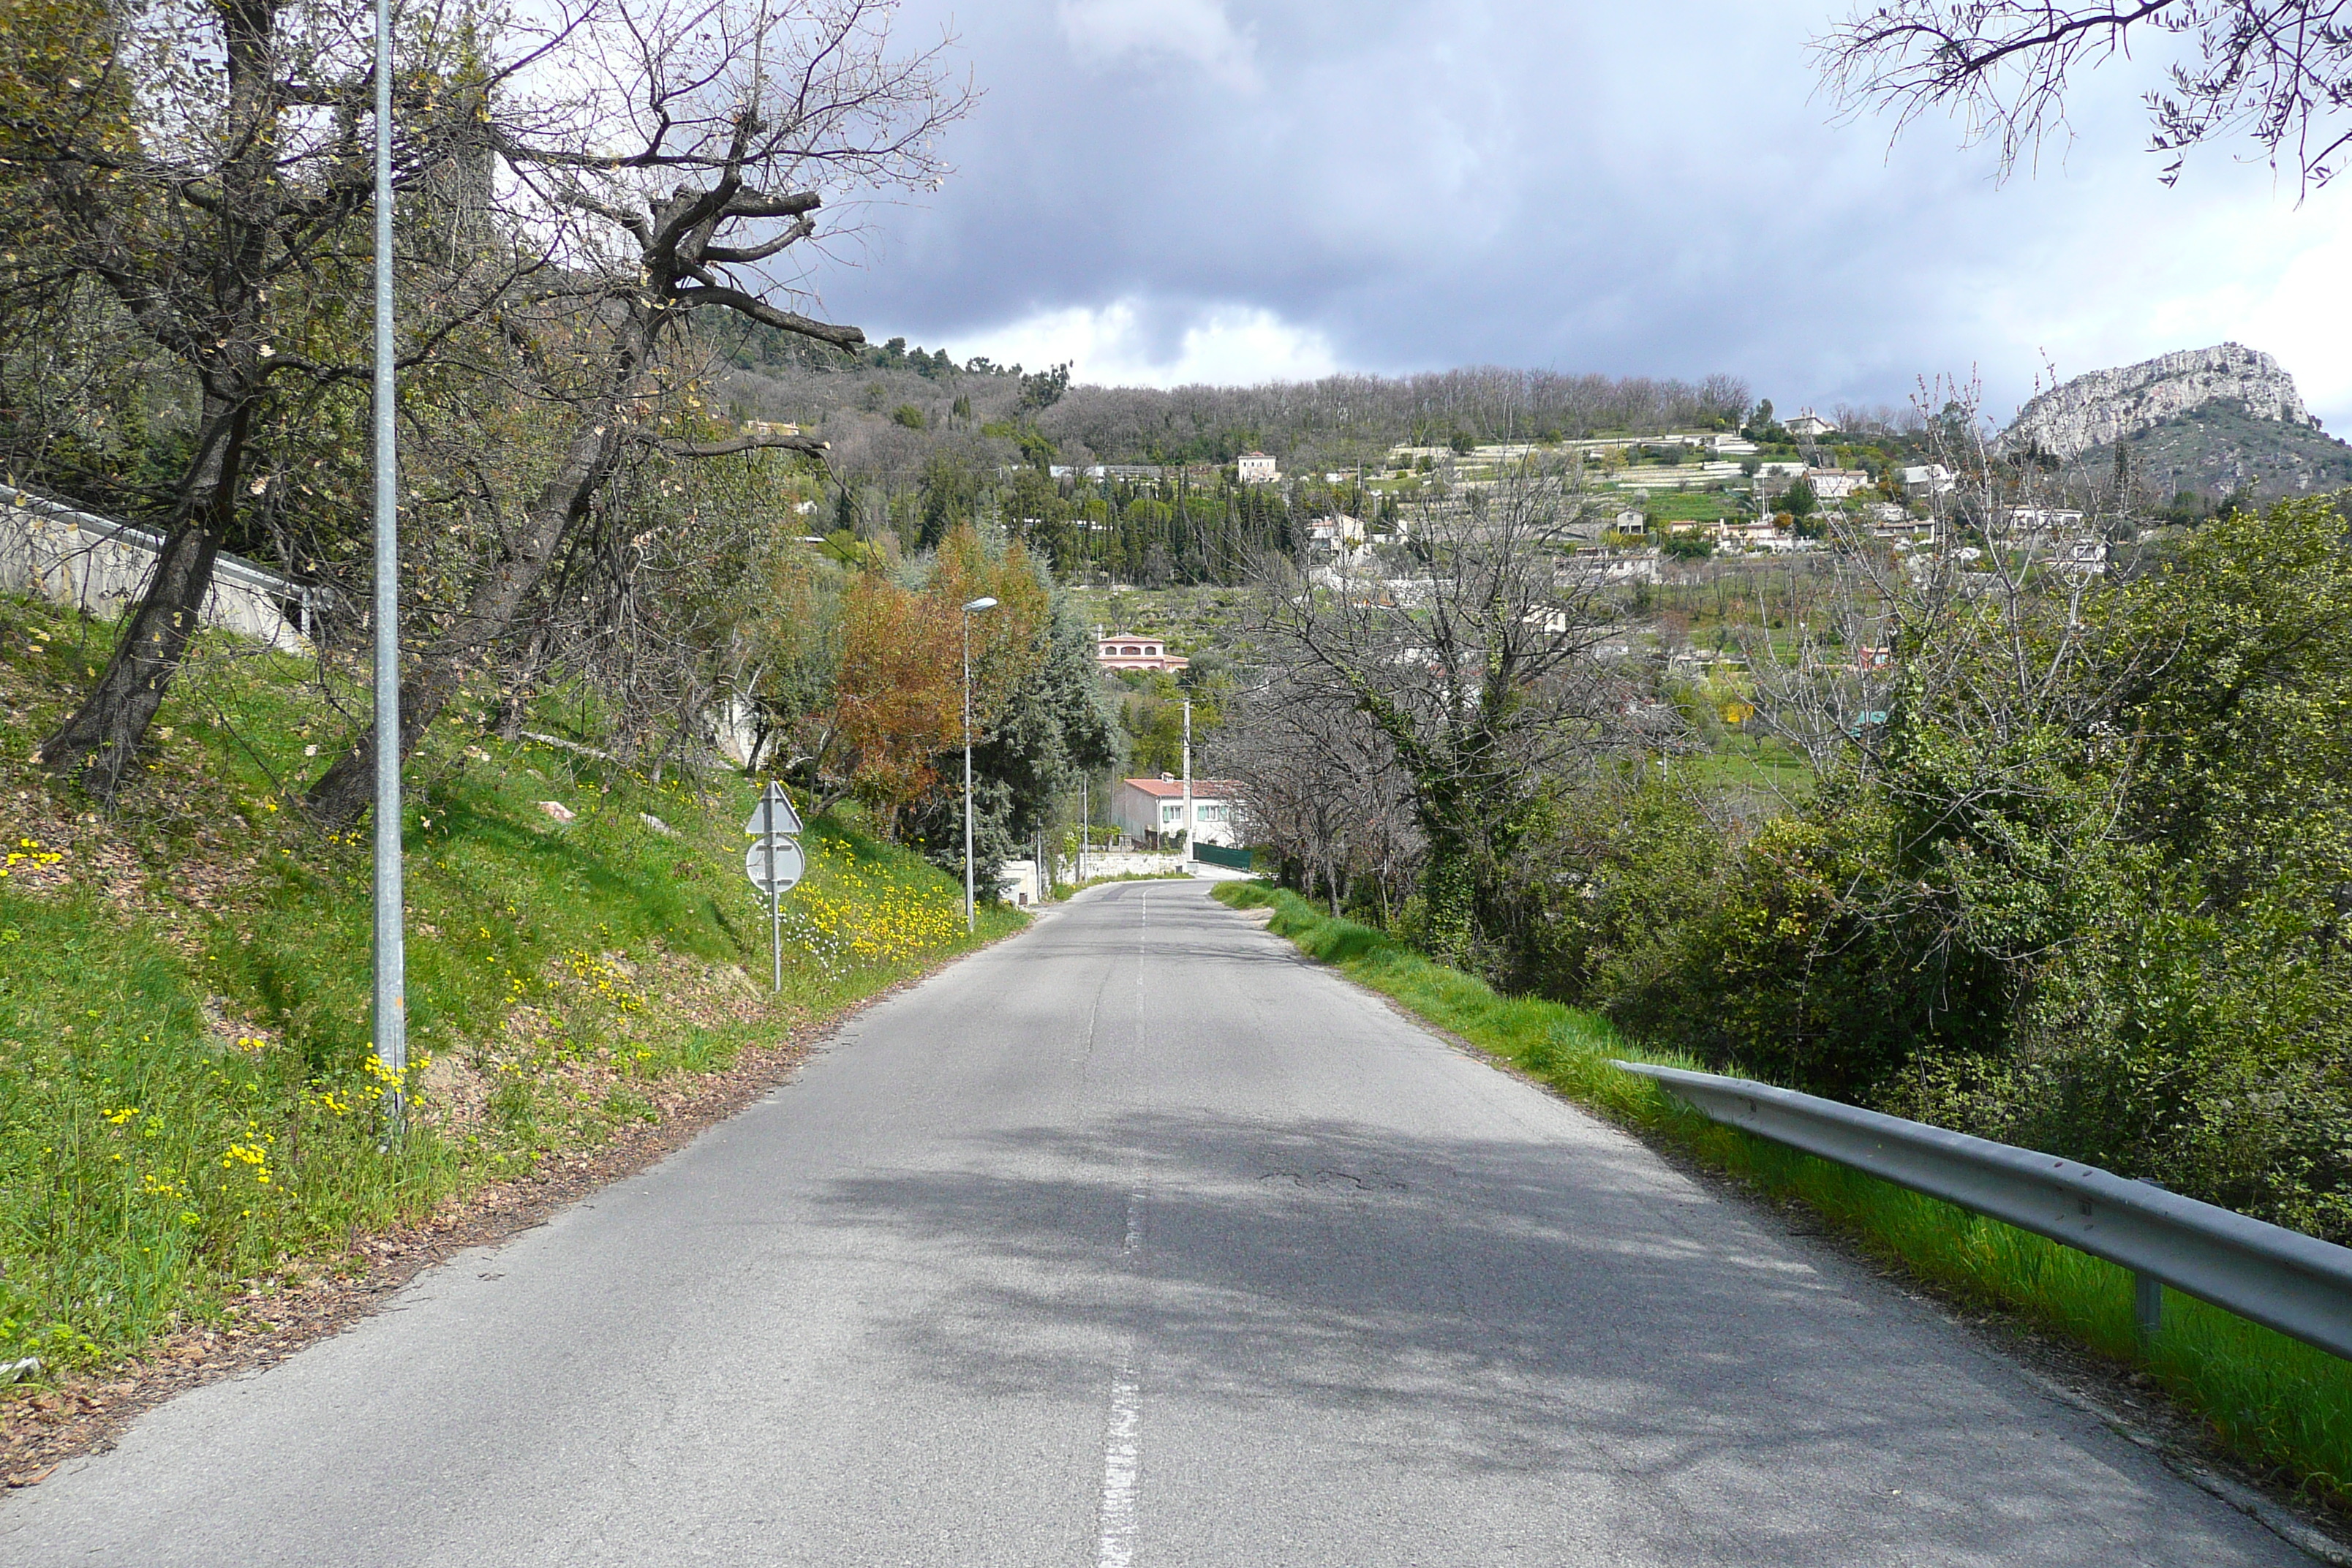
[[[470,94],[430,12],[405,19],[395,181],[456,153]],[[372,195],[372,24],[350,0],[31,7],[0,28],[0,299],[87,280],[193,376],[191,456],[113,658],[42,762],[113,799],[165,701],[245,501],[254,421],[287,383],[365,376],[322,329],[355,289]]]

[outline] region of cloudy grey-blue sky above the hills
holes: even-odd
[[[2352,183],[2234,160],[2157,183],[2136,94],[2074,141],[1837,122],[1806,40],[1844,0],[908,0],[983,89],[955,179],[873,205],[826,303],[1080,381],[1519,364],[1731,371],[1783,409],[1903,402],[2234,339],[2352,430]]]

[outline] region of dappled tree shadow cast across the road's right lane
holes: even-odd
[[[1860,1561],[1926,1526],[1938,1561],[2091,1561],[2154,1523],[2105,1434],[1613,1138],[1134,1114],[847,1178],[821,1215],[955,1260],[894,1333],[967,1389],[1096,1385],[1077,1347],[1131,1333],[1192,1406],[1303,1415],[1388,1469],[1670,1497],[1611,1528],[1733,1559]]]

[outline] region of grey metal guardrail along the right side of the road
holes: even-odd
[[[2161,1326],[2161,1286],[2171,1286],[2352,1359],[2352,1248],[2098,1166],[1792,1088],[1649,1063],[1616,1065],[1656,1079],[1712,1121],[2131,1269],[2143,1333]]]

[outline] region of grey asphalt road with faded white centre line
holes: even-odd
[[[1999,1356],[1120,884],[0,1505],[0,1563],[2296,1563]]]

